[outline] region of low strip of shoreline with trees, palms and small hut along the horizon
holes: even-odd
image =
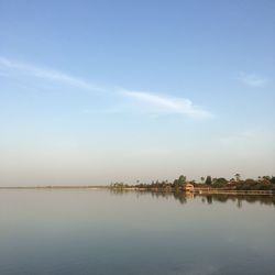
[[[189,188],[190,187],[190,188]],[[199,194],[252,194],[271,195],[275,194],[275,177],[258,176],[257,179],[242,179],[240,174],[235,174],[230,180],[224,177],[212,178],[201,177],[200,183],[187,180],[182,175],[173,182],[156,180],[151,184],[112,183],[110,185],[44,185],[44,186],[2,186],[0,189],[129,189],[129,190],[153,190],[153,191],[191,191]]]

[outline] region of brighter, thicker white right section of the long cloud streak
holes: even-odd
[[[143,103],[144,108],[152,109],[156,112],[180,113],[191,118],[202,119],[212,117],[209,111],[204,110],[199,106],[195,106],[189,99],[125,89],[121,89],[120,92],[125,97]]]

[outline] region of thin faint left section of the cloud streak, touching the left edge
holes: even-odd
[[[58,81],[58,82],[73,86],[73,87],[77,87],[77,88],[81,88],[81,89],[88,89],[88,90],[94,90],[94,91],[103,90],[101,87],[98,87],[89,81],[69,76],[58,70],[41,68],[34,65],[11,61],[6,57],[0,57],[0,66],[16,70],[24,75],[43,78],[47,80],[53,80],[53,81]]]

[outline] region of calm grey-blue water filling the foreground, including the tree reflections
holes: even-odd
[[[275,274],[275,198],[0,190],[0,274]]]

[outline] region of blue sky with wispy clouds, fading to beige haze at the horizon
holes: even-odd
[[[0,186],[275,175],[275,1],[0,0]]]

